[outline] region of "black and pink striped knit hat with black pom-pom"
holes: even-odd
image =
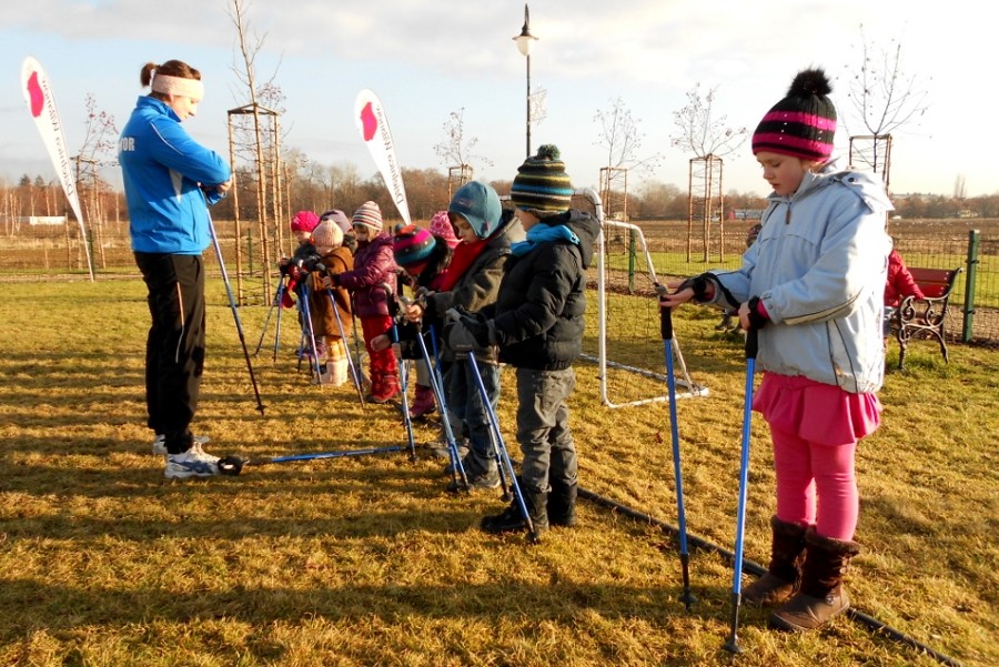
[[[753,154],[766,151],[813,162],[828,160],[836,133],[830,92],[825,71],[798,72],[787,97],[774,104],[753,133]]]

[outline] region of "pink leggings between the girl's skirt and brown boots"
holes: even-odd
[[[824,537],[850,540],[860,497],[854,473],[857,443],[820,445],[770,427],[777,473],[777,518],[815,525]]]

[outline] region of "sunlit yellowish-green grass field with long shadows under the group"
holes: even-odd
[[[256,413],[220,282],[195,426],[219,454],[276,456],[402,444],[402,421],[350,386],[299,374],[287,327],[254,360]],[[595,311],[595,309],[594,309]],[[241,319],[255,346],[266,314]],[[692,534],[733,546],[745,364],[714,312],[676,314],[689,372],[678,402]],[[285,324],[291,320],[285,320]],[[686,612],[676,543],[582,502],[581,525],[539,545],[481,533],[495,493],[452,496],[420,448],[248,467],[168,482],[149,453],[140,281],[6,285],[0,303],[0,665],[728,665],[731,567],[694,549]],[[272,324],[273,331],[273,324]],[[272,341],[272,333],[268,336]],[[662,346],[659,347],[662,351]],[[897,352],[889,351],[894,367]],[[914,342],[889,372],[882,427],[858,452],[864,552],[855,605],[963,665],[999,664],[999,353]],[[653,381],[612,371],[646,395]],[[662,403],[599,404],[596,366],[572,400],[581,484],[676,523]],[[512,455],[513,376],[500,418]],[[436,433],[417,424],[418,444]],[[753,425],[746,556],[764,562],[773,513],[766,426]],[[817,634],[744,609],[745,666],[934,665],[847,618]]]

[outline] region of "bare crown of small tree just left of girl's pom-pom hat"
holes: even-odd
[[[715,117],[717,92],[715,87],[702,94],[700,83],[694,84],[687,92],[687,105],[673,114],[679,132],[670,135],[670,145],[697,158],[724,158],[743,145],[749,131],[727,127],[725,115]]]

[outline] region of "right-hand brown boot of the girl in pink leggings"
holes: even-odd
[[[770,615],[770,626],[796,633],[811,630],[849,609],[850,596],[842,577],[859,553],[856,542],[823,537],[809,528],[805,534],[801,588]]]

